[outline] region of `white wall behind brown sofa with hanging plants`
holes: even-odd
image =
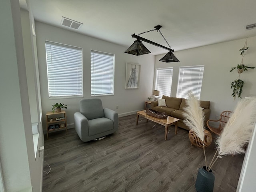
[[[238,73],[236,70],[229,72],[231,67],[240,64],[240,48],[244,46],[245,39],[230,42],[218,43],[198,48],[174,52],[180,62],[164,63],[159,60],[164,56],[156,56],[156,68],[174,67],[172,79],[171,96],[176,97],[178,85],[178,74],[180,66],[204,65],[204,77],[200,100],[210,101],[210,119],[215,119],[215,115],[220,115],[224,110],[234,110],[234,106],[239,99],[234,102],[231,96],[230,84],[236,80]],[[248,38],[249,47],[244,56],[244,65],[256,67],[256,37]],[[249,69],[240,75],[244,80],[242,97],[256,95],[255,78],[256,69]]]

